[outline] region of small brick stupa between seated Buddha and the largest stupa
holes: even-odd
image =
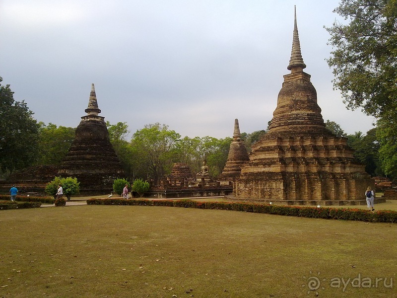
[[[217,180],[221,185],[229,185],[235,182],[240,175],[241,166],[250,160],[247,148],[241,140],[240,127],[238,119],[234,120],[233,141],[230,144],[229,154],[227,156],[225,167]]]

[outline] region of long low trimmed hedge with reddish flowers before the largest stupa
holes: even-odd
[[[376,223],[397,223],[397,212],[380,210],[371,212],[363,209],[329,208],[308,206],[279,206],[257,203],[199,202],[195,200],[146,200],[146,199],[89,199],[88,205],[146,205],[200,209],[222,209],[255,213],[297,216],[317,219],[364,221]]]

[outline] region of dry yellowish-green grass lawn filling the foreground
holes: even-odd
[[[0,232],[6,298],[397,297],[396,224],[85,205],[1,211]]]

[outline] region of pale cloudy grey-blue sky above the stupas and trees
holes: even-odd
[[[1,0],[0,76],[45,124],[77,127],[95,84],[100,116],[128,138],[160,123],[182,137],[267,128],[291,56],[302,57],[324,121],[347,134],[376,120],[333,90],[324,26],[337,0]]]

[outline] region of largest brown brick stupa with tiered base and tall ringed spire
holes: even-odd
[[[291,60],[269,131],[252,147],[235,197],[288,205],[365,204],[374,181],[353,158],[346,138],[325,127],[317,92],[301,55],[296,12]]]

